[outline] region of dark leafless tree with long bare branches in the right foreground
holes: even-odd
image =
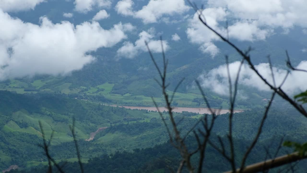
[[[219,114],[219,112],[214,111],[213,109],[211,109],[210,107],[210,103],[208,102],[208,99],[205,95],[205,92],[203,91],[203,89],[200,86],[200,83],[196,80],[196,84],[203,96],[203,99],[205,101],[205,103],[207,104],[207,107],[210,109],[211,115],[204,115],[203,118],[201,118],[189,131],[187,134],[185,135],[181,135],[181,131],[178,129],[177,127],[177,123],[174,119],[174,115],[173,115],[173,107],[172,105],[174,105],[173,102],[173,98],[174,98],[174,94],[176,93],[178,87],[180,86],[181,82],[184,80],[182,79],[177,86],[175,87],[173,94],[172,95],[168,95],[166,92],[166,88],[168,86],[167,82],[166,82],[166,70],[167,70],[167,66],[168,66],[168,60],[165,58],[165,54],[164,54],[164,50],[163,50],[163,44],[162,44],[162,38],[161,39],[161,48],[162,48],[162,57],[163,57],[163,67],[160,68],[155,60],[155,58],[153,57],[153,54],[150,51],[150,48],[148,47],[147,42],[146,46],[147,49],[149,51],[150,54],[150,58],[154,63],[154,66],[156,67],[157,71],[158,71],[158,75],[159,75],[159,79],[156,79],[156,82],[159,84],[159,86],[162,89],[162,94],[164,96],[165,99],[165,103],[166,103],[166,107],[168,109],[168,114],[169,114],[169,118],[171,121],[171,127],[169,127],[167,125],[167,123],[165,122],[165,119],[163,117],[163,114],[159,111],[158,105],[155,102],[155,100],[153,99],[153,103],[155,104],[158,112],[160,113],[161,119],[168,131],[168,135],[169,135],[169,140],[170,143],[173,145],[173,147],[177,148],[178,151],[180,151],[180,155],[181,155],[181,162],[179,163],[179,167],[177,169],[177,172],[181,172],[183,167],[186,167],[188,169],[188,171],[190,173],[195,172],[195,167],[193,167],[192,162],[191,162],[191,157],[193,155],[195,155],[196,153],[199,153],[199,159],[198,159],[198,166],[197,166],[197,172],[202,172],[202,167],[204,164],[204,159],[205,159],[205,154],[206,154],[206,148],[208,145],[210,145],[211,147],[213,147],[214,149],[216,149],[216,151],[218,151],[230,164],[231,164],[231,171],[230,172],[239,172],[239,173],[251,173],[251,172],[258,172],[258,171],[266,171],[269,170],[271,168],[274,167],[278,167],[281,165],[285,165],[297,160],[301,160],[301,159],[305,159],[307,158],[307,143],[306,144],[298,144],[298,143],[292,143],[290,141],[286,141],[284,143],[284,146],[288,146],[288,147],[295,147],[295,152],[289,155],[284,155],[281,157],[271,159],[271,160],[265,160],[264,162],[261,163],[256,163],[253,165],[249,165],[246,166],[246,160],[249,156],[249,154],[251,153],[251,150],[255,147],[256,143],[258,142],[259,136],[262,133],[262,127],[263,124],[267,118],[268,115],[268,111],[270,110],[270,107],[272,105],[272,102],[268,102],[268,105],[265,108],[264,111],[264,115],[262,116],[262,120],[260,125],[258,126],[258,131],[253,139],[253,141],[251,142],[251,144],[249,145],[249,147],[247,148],[247,150],[245,151],[243,158],[241,160],[241,164],[239,165],[239,168],[237,169],[238,165],[235,162],[235,158],[236,158],[236,153],[235,153],[235,149],[234,149],[234,141],[233,141],[233,133],[232,133],[232,119],[233,119],[233,115],[234,115],[234,107],[235,107],[235,102],[236,102],[236,96],[237,96],[237,86],[238,86],[238,81],[239,81],[239,75],[240,75],[240,70],[241,67],[243,65],[243,63],[247,63],[251,70],[254,71],[255,74],[258,75],[259,78],[261,78],[261,80],[263,82],[265,82],[265,84],[267,86],[270,87],[270,89],[272,90],[272,95],[271,95],[271,100],[274,99],[275,95],[279,95],[281,96],[286,102],[290,103],[297,111],[299,111],[301,113],[301,115],[305,116],[307,118],[307,112],[304,109],[304,107],[302,107],[302,105],[300,103],[298,103],[298,101],[302,101],[303,103],[306,103],[307,101],[307,91],[303,92],[297,96],[295,96],[296,98],[300,98],[298,101],[291,99],[290,96],[288,96],[283,90],[282,90],[282,85],[284,84],[284,82],[287,79],[287,76],[289,74],[286,75],[286,77],[284,78],[283,82],[279,85],[276,86],[275,83],[275,79],[274,79],[274,73],[272,70],[272,64],[270,61],[270,57],[268,57],[269,60],[269,64],[270,64],[270,69],[271,69],[271,75],[273,78],[273,84],[271,84],[270,82],[267,81],[266,78],[262,77],[262,75],[258,72],[258,70],[255,68],[255,65],[251,62],[251,57],[249,55],[250,51],[252,50],[251,47],[249,47],[246,51],[241,50],[239,47],[237,47],[234,43],[230,42],[230,40],[228,38],[225,38],[222,36],[222,34],[220,34],[218,31],[214,30],[212,27],[210,27],[205,20],[205,16],[202,14],[202,10],[203,9],[199,9],[196,4],[191,3],[190,1],[188,1],[190,3],[190,5],[194,8],[194,10],[198,13],[199,15],[199,20],[200,22],[202,22],[202,24],[204,26],[206,26],[209,30],[211,30],[212,32],[214,32],[217,36],[219,36],[224,42],[226,42],[229,46],[231,46],[232,48],[234,48],[239,55],[241,56],[242,60],[238,69],[238,73],[236,75],[235,81],[231,81],[230,78],[230,72],[229,72],[229,63],[228,63],[228,56],[226,55],[226,64],[227,64],[227,72],[228,72],[228,82],[229,82],[229,102],[230,102],[230,113],[229,113],[229,129],[228,129],[228,143],[230,145],[230,154],[227,154],[228,152],[226,152],[226,148],[224,147],[224,143],[223,140],[218,137],[220,146],[217,146],[215,143],[212,142],[211,134],[212,134],[212,128],[214,126],[215,123],[215,119],[217,117],[217,115]],[[296,69],[291,65],[290,62],[290,57],[288,55],[288,52],[286,51],[286,56],[287,56],[287,66],[289,67],[290,70],[299,70],[299,71],[305,71],[303,69]],[[211,116],[211,118],[209,118],[208,116]],[[195,129],[195,127],[201,123],[202,124],[202,128],[200,129]],[[172,130],[171,130],[172,129]],[[198,143],[198,147],[191,149],[188,148],[188,146],[185,143],[185,139],[187,138],[187,136],[192,133],[195,136],[195,140]],[[281,147],[282,143],[280,143],[279,147],[277,148],[277,153]],[[292,166],[291,166],[292,168]]]

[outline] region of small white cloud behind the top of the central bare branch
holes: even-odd
[[[137,54],[148,51],[145,41],[153,53],[162,52],[161,41],[152,39],[154,37],[153,29],[150,29],[147,32],[142,31],[140,34],[138,34],[138,36],[139,39],[136,40],[134,44],[131,42],[124,42],[123,46],[117,50],[117,57],[134,58]],[[163,49],[167,51],[169,49],[168,42],[163,40],[162,44]]]

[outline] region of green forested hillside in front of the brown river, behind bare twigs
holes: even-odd
[[[0,151],[2,153],[0,156],[2,170],[10,165],[18,165],[21,169],[27,170],[32,169],[33,166],[47,164],[42,148],[38,147],[42,143],[41,130],[38,126],[39,120],[42,122],[47,136],[51,134],[52,130],[55,131],[50,147],[52,156],[58,162],[66,159],[70,162],[76,161],[74,159],[76,158],[76,150],[73,147],[72,134],[69,130],[72,117],[76,118],[76,134],[86,169],[100,171],[100,168],[105,167],[103,165],[106,164],[113,165],[107,166],[106,172],[122,172],[123,170],[143,172],[146,170],[157,171],[158,169],[168,171],[164,167],[165,165],[177,166],[178,153],[169,143],[165,143],[168,141],[167,131],[156,112],[109,107],[96,102],[67,98],[64,94],[20,95],[2,91],[1,95],[1,102],[4,103],[1,104],[1,110],[3,110],[1,111],[2,147]],[[54,101],[55,99],[57,101]],[[26,104],[24,104],[25,100],[28,101]],[[240,152],[240,148],[253,139],[262,113],[263,110],[257,108],[235,114],[233,129],[234,137],[238,143],[237,152]],[[175,115],[177,121],[184,117],[179,124],[182,134],[185,134],[197,119],[204,116],[184,112]],[[165,116],[167,117],[167,114]],[[218,116],[214,127],[215,135],[226,135],[227,120],[227,114]],[[262,147],[270,145],[270,143],[273,146],[278,145],[280,138],[284,135],[286,139],[304,142],[307,137],[305,134],[307,126],[304,120],[304,117],[295,113],[293,108],[283,107],[278,103],[274,104],[260,137],[260,143],[254,149],[254,156],[249,159],[249,163],[261,161],[263,158],[260,157],[260,153],[264,152]],[[166,122],[170,123],[169,120]],[[91,132],[95,132],[99,127],[108,128],[98,132],[93,140],[84,141],[89,138]],[[272,134],[275,134],[274,138],[272,138]],[[191,146],[195,145],[193,138],[193,136],[189,137]],[[163,145],[156,146],[159,144]],[[147,149],[142,150],[142,148]],[[271,152],[274,152],[273,149],[274,147]],[[283,148],[283,150],[285,149]],[[208,152],[208,158],[210,158],[209,155],[214,155],[216,151],[208,148]],[[213,153],[210,154],[210,152]],[[280,152],[280,154],[283,153],[284,151]],[[106,155],[110,155],[110,157]],[[144,159],[147,157],[149,158]],[[119,158],[122,160],[119,161]],[[126,162],[125,159],[129,162]],[[219,160],[222,157],[216,159]],[[125,164],[121,164],[122,162]],[[98,163],[99,166],[93,166]],[[221,163],[221,161],[208,162],[206,169],[221,171],[215,169],[217,166],[210,166],[213,163]],[[117,164],[121,164],[122,167],[117,167]],[[77,169],[76,166],[68,164],[68,172],[76,171],[70,169],[72,167]],[[224,171],[227,169],[226,166],[223,167]]]

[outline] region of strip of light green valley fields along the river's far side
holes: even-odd
[[[179,70],[183,70],[186,67],[180,67]],[[152,97],[146,96],[146,95],[140,95],[139,93],[142,93],[143,90],[151,90],[152,83],[149,80],[146,81],[135,81],[132,82],[129,86],[127,86],[127,91],[131,91],[132,93],[128,92],[125,94],[116,94],[117,91],[114,89],[116,86],[115,83],[110,82],[104,82],[103,84],[96,85],[96,86],[78,86],[75,87],[73,83],[71,82],[63,82],[59,78],[55,77],[47,77],[45,79],[37,79],[34,80],[31,83],[25,83],[18,80],[11,80],[9,84],[0,83],[0,90],[7,90],[7,91],[15,91],[19,94],[26,94],[26,93],[36,93],[37,91],[41,92],[60,92],[67,95],[76,95],[74,96],[77,99],[83,99],[88,100],[87,96],[102,96],[105,99],[108,99],[107,102],[99,101],[105,104],[115,104],[115,105],[121,105],[121,106],[149,106],[153,107],[153,101]],[[72,87],[73,86],[73,87]],[[25,88],[32,87],[35,88],[37,91],[29,91]],[[142,88],[142,92],[138,92],[138,88]],[[152,88],[153,89],[153,88]],[[144,90],[144,91],[145,91]],[[173,94],[172,91],[167,91],[167,93],[171,96]],[[255,104],[252,105],[258,105],[259,101],[263,99],[260,95],[256,93],[251,93],[251,96],[255,97],[255,99],[252,101]],[[214,104],[211,104],[211,107],[213,108],[228,108],[229,102],[228,98],[222,98],[218,95],[215,95],[214,93],[208,94],[208,99],[210,102],[214,102]],[[201,102],[197,103],[194,102],[195,99],[201,99],[202,95],[200,95],[200,92],[195,89],[191,88],[187,91],[187,93],[180,93],[177,92],[174,95],[174,105],[177,107],[207,107],[207,105],[202,100]],[[161,96],[155,96],[153,97],[154,101],[158,104],[158,106],[165,106],[165,100]],[[238,97],[240,100],[240,97]],[[176,103],[176,104],[175,104]],[[251,105],[251,103],[245,102],[246,105]],[[244,105],[236,105],[237,109],[248,109],[248,107]]]

